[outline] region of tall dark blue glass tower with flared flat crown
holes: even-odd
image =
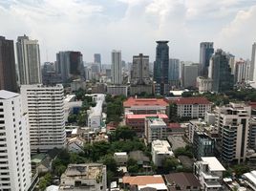
[[[156,94],[164,95],[169,90],[169,41],[157,41],[156,61],[154,62],[154,81]]]

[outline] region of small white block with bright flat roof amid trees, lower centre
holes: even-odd
[[[163,159],[174,156],[167,140],[154,140],[152,142],[152,160],[156,166],[162,166]]]

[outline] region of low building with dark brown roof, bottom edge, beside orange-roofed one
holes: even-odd
[[[192,173],[171,173],[164,175],[170,191],[200,191],[201,184]]]

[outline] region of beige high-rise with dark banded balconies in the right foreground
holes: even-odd
[[[221,140],[221,157],[225,162],[245,161],[248,147],[250,106],[243,103],[230,103],[216,108],[216,127]]]

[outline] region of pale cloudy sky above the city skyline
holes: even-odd
[[[42,63],[79,51],[86,62],[101,53],[110,64],[112,50],[154,61],[157,40],[169,40],[170,57],[183,61],[199,62],[203,41],[247,59],[256,0],[0,0],[0,35],[15,42],[23,34],[38,40]]]

